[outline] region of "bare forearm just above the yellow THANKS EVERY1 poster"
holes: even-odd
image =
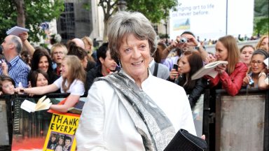
[[[64,102],[64,104],[53,104],[50,106],[50,109],[56,110],[61,113],[67,113],[69,108],[75,106],[75,104],[79,101],[80,97],[81,96],[70,94],[69,96],[67,96],[67,100]]]

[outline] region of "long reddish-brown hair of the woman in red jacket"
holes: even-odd
[[[230,73],[233,73],[233,71],[235,71],[235,64],[240,62],[240,51],[237,46],[237,41],[233,36],[230,35],[219,38],[219,41],[228,50],[227,71],[230,75]]]

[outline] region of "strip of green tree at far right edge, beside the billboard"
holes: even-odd
[[[254,1],[254,34],[268,34],[269,9],[268,0]]]

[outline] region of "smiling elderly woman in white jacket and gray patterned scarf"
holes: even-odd
[[[184,89],[149,71],[157,46],[149,20],[120,12],[108,31],[111,57],[122,69],[90,87],[76,131],[78,150],[164,150],[179,129],[195,134]]]

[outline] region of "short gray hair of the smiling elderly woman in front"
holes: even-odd
[[[108,22],[109,49],[113,59],[119,59],[120,45],[130,34],[149,41],[151,56],[156,52],[157,36],[151,22],[142,13],[121,11],[111,16]]]

